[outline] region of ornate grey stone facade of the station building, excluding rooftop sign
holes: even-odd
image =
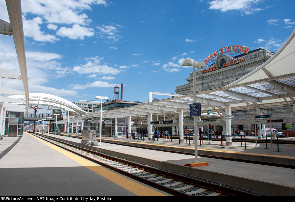
[[[207,73],[202,74],[202,70],[196,71],[196,91],[202,92],[212,89],[218,89],[224,86],[227,86],[228,84],[231,84],[233,81],[240,79],[242,76],[245,76],[252,70],[256,69],[258,66],[266,62],[268,59],[273,56],[273,52],[264,50],[264,49],[256,49],[253,51],[249,51],[248,54],[242,54],[239,57],[244,57],[245,61],[241,62],[239,64],[230,65],[227,67],[222,68],[221,66],[218,66],[215,69],[215,71],[209,71]],[[226,56],[225,54],[220,54],[217,56],[215,60],[215,64],[212,66],[217,66],[218,61],[220,61],[218,58],[223,57],[226,58],[227,61],[231,61],[232,58]],[[234,59],[235,60],[235,59]],[[226,61],[226,62],[227,62]],[[204,72],[204,70],[203,70]],[[189,83],[183,84],[180,86],[176,86],[176,94],[182,94],[182,95],[189,95],[194,93],[194,87],[193,87],[193,73],[190,73],[189,78],[186,79]],[[279,118],[285,118],[285,117],[294,117],[292,112],[290,111],[288,106],[277,106],[277,107],[270,107],[270,108],[261,108],[260,109],[263,114],[271,114],[271,117],[273,119],[279,119]],[[235,116],[236,120],[246,120],[246,119],[254,119],[254,113],[250,110],[240,110],[240,111],[232,111],[232,115]],[[186,120],[186,122],[191,122],[193,120]],[[294,123],[289,123],[291,125],[290,130],[294,130]],[[239,126],[234,126],[234,131],[239,130]],[[254,125],[243,125],[242,131],[253,131]],[[269,127],[268,124],[266,124],[266,127]],[[282,130],[283,124],[282,123],[273,123],[273,128],[277,128]],[[218,134],[221,134],[222,128],[220,126],[214,126],[214,131],[217,131]],[[241,131],[241,130],[240,130]]]

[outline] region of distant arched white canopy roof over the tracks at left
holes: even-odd
[[[9,97],[21,99],[21,100],[26,99],[26,97],[22,96],[22,95],[12,95]],[[29,106],[30,105],[48,106],[48,108],[44,108],[44,109],[60,108],[65,111],[70,110],[79,116],[87,113],[86,111],[83,111],[81,108],[76,106],[74,103],[71,103],[70,101],[68,101],[66,99],[63,99],[63,98],[55,96],[55,95],[45,94],[45,93],[30,93],[29,94]],[[52,108],[49,108],[49,107],[52,107]]]

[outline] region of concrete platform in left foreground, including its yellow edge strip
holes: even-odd
[[[28,133],[0,140],[1,196],[166,196]]]

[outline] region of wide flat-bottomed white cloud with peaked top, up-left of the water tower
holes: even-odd
[[[98,56],[86,58],[86,64],[81,64],[79,66],[75,66],[72,70],[77,72],[78,74],[118,74],[121,70],[109,67],[107,65],[100,65],[100,60],[104,59],[103,57],[99,58]]]

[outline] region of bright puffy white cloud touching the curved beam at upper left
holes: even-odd
[[[32,20],[27,20],[23,17],[23,25],[24,25],[24,36],[32,37],[35,41],[42,42],[51,42],[59,41],[54,35],[45,34],[44,31],[41,31],[40,24],[43,24],[43,21],[40,17],[36,17]]]

